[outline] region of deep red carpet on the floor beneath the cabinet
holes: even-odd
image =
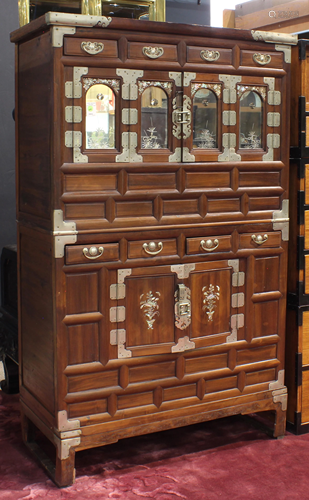
[[[21,441],[18,396],[0,392],[1,500],[307,500],[309,434],[274,440],[229,417],[79,452],[58,489]]]

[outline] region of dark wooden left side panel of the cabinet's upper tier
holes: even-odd
[[[50,35],[19,46],[18,211],[50,218],[52,60]]]

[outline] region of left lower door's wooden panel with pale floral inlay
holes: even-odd
[[[174,276],[129,277],[125,284],[127,348],[174,342]]]

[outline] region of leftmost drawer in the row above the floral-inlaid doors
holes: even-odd
[[[90,245],[72,245],[65,249],[66,264],[86,264],[89,262],[107,262],[119,259],[118,243],[94,243]]]

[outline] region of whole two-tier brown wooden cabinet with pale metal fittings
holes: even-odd
[[[46,14],[16,43],[23,435],[285,429],[291,35]]]

